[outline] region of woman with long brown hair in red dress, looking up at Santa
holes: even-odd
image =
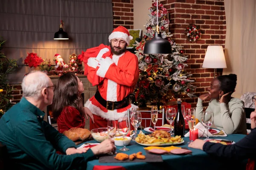
[[[84,128],[84,91],[81,80],[71,72],[63,74],[57,82],[52,102],[52,114],[57,119],[58,131],[63,133],[72,127]]]

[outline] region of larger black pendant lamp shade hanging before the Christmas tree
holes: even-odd
[[[144,46],[144,54],[172,54],[172,45],[161,37],[161,33],[155,32],[154,38],[147,41]]]

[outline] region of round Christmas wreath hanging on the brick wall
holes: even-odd
[[[186,39],[189,42],[195,42],[196,40],[199,40],[201,37],[201,29],[199,26],[191,23],[189,26],[186,27],[185,33]]]

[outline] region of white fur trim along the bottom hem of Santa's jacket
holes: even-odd
[[[90,100],[87,100],[87,102],[84,104],[84,107],[89,108],[93,114],[100,116],[104,119],[114,118],[115,120],[118,120],[119,118],[127,117],[127,111],[120,113],[117,113],[116,110],[104,112],[96,105],[93,105]],[[138,106],[131,104],[131,108],[129,108],[129,110],[132,111],[133,108],[138,108]]]

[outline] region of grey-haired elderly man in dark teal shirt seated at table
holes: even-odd
[[[105,140],[90,149],[76,149],[74,142],[43,120],[42,110],[52,104],[55,88],[46,74],[28,74],[21,86],[23,98],[0,119],[0,142],[7,146],[10,166],[26,170],[70,170],[86,166],[95,155],[115,151],[113,140]],[[67,155],[59,155],[56,150]]]

